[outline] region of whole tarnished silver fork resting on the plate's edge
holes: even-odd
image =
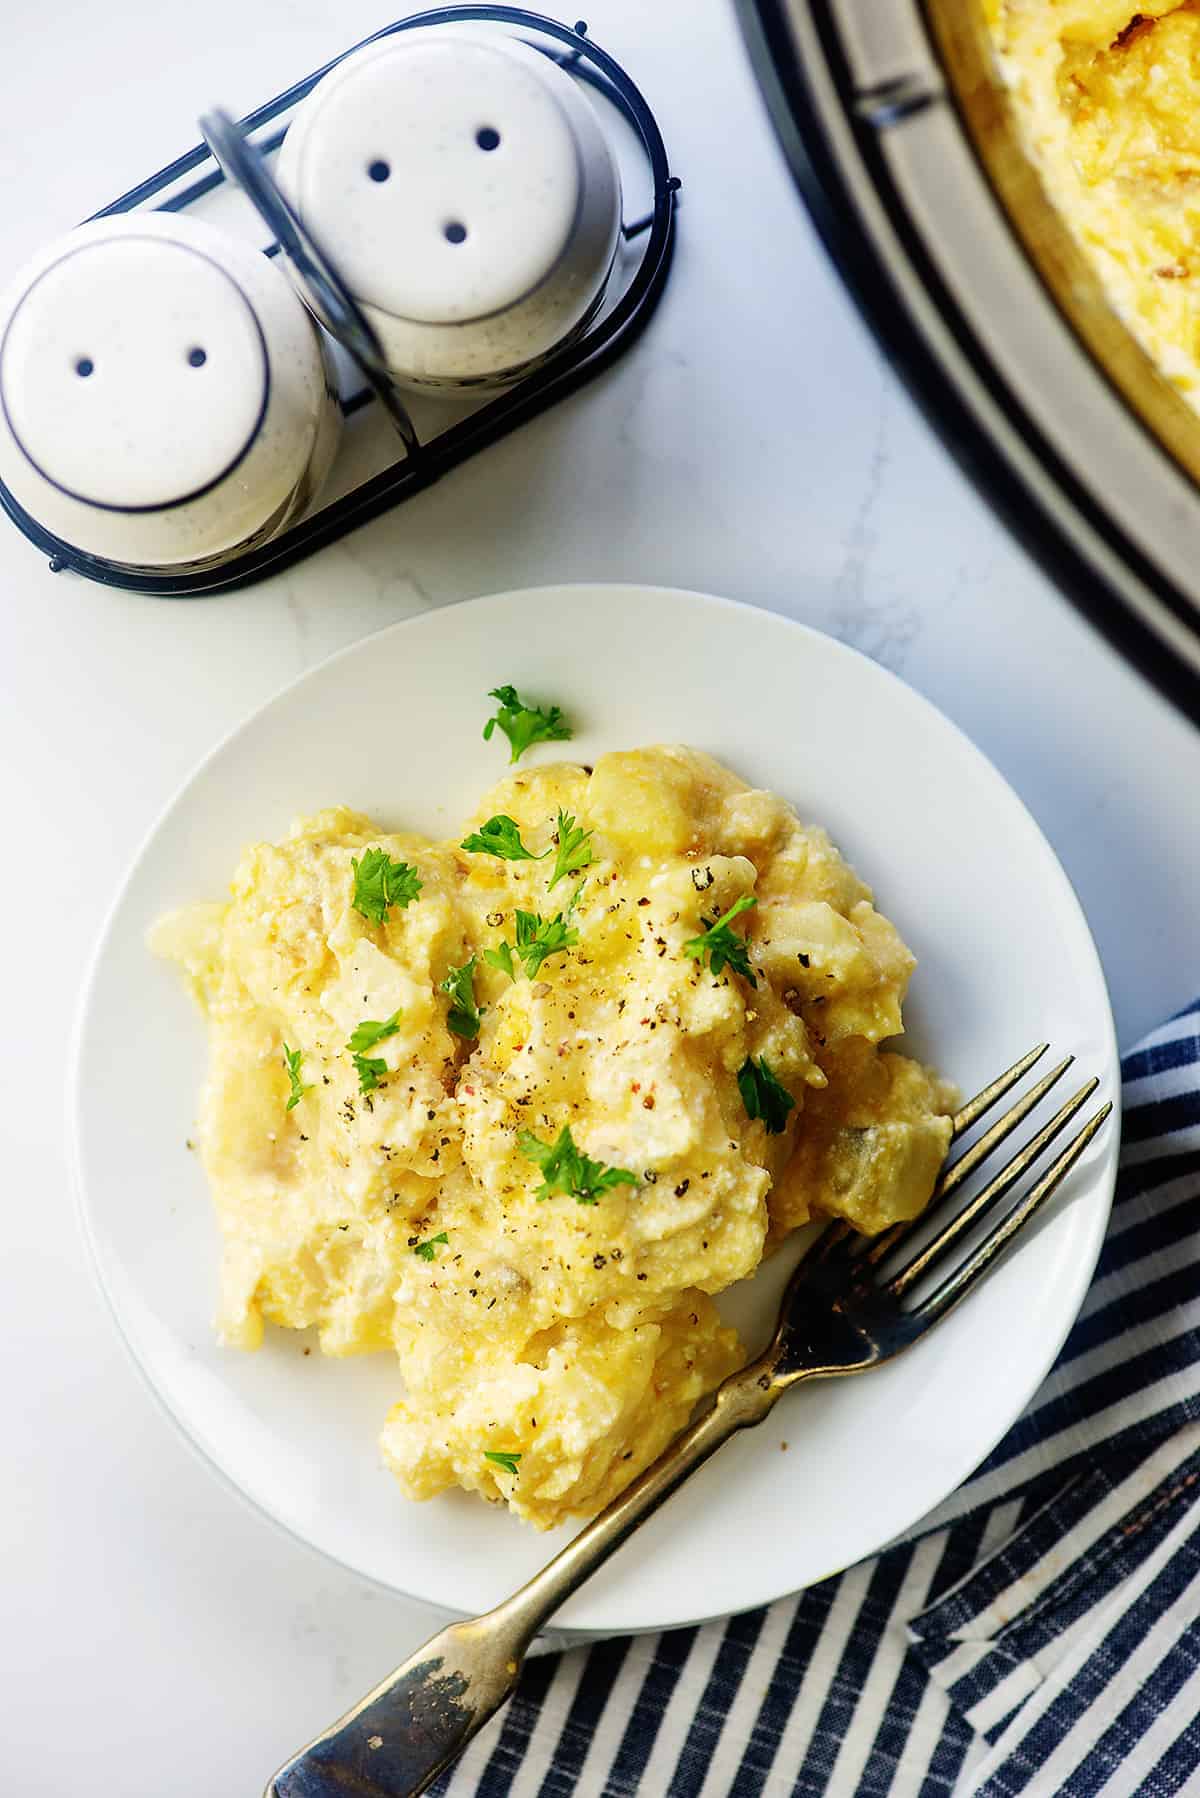
[[[970,1131],[1047,1052],[1042,1043],[984,1086],[954,1118]],[[909,1259],[930,1219],[1045,1099],[1074,1057],[1033,1084],[970,1149],[950,1162],[930,1205],[910,1224],[862,1237],[831,1224],[801,1260],[779,1307],[770,1345],[709,1399],[707,1410],[619,1498],[495,1611],[452,1624],[417,1649],[367,1697],[300,1749],[266,1787],[266,1798],[416,1798],[500,1710],[520,1678],[529,1643],[554,1611],[626,1541],[682,1482],[738,1429],[761,1424],[775,1401],[804,1379],[862,1374],[919,1341],[982,1280],[1045,1205],[1112,1111],[1105,1104],[955,1269],[914,1302],[912,1289],[1013,1190],[1096,1091],[1087,1081],[991,1179]]]

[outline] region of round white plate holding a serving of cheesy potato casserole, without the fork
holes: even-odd
[[[480,741],[502,678],[574,735],[507,764],[502,725]],[[921,1201],[945,1127],[923,1064],[973,1091],[1034,1037],[1119,1099],[1079,904],[928,701],[752,606],[500,593],[311,669],[153,827],[79,1014],[81,1217],[149,1388],[230,1489],[475,1613],[653,1453],[734,1327],[757,1352],[817,1188],[867,1224],[873,1194]],[[563,1627],[743,1611],[937,1505],[1058,1352],[1114,1169],[1115,1131],[936,1338],[729,1442]],[[218,1291],[255,1352],[218,1340]],[[407,1503],[396,1476],[444,1491]]]

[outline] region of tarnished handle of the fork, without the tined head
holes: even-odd
[[[657,1462],[495,1611],[452,1624],[300,1749],[266,1798],[416,1798],[500,1710],[529,1643],[554,1611],[738,1429],[759,1424],[784,1390],[777,1347],[718,1386],[709,1408]]]

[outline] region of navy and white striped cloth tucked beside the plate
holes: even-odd
[[[1123,1075],[1096,1280],[979,1473],[797,1598],[533,1660],[437,1793],[1200,1794],[1200,1001]]]

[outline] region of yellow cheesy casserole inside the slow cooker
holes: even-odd
[[[984,0],[1049,198],[1123,320],[1200,403],[1200,9]]]

